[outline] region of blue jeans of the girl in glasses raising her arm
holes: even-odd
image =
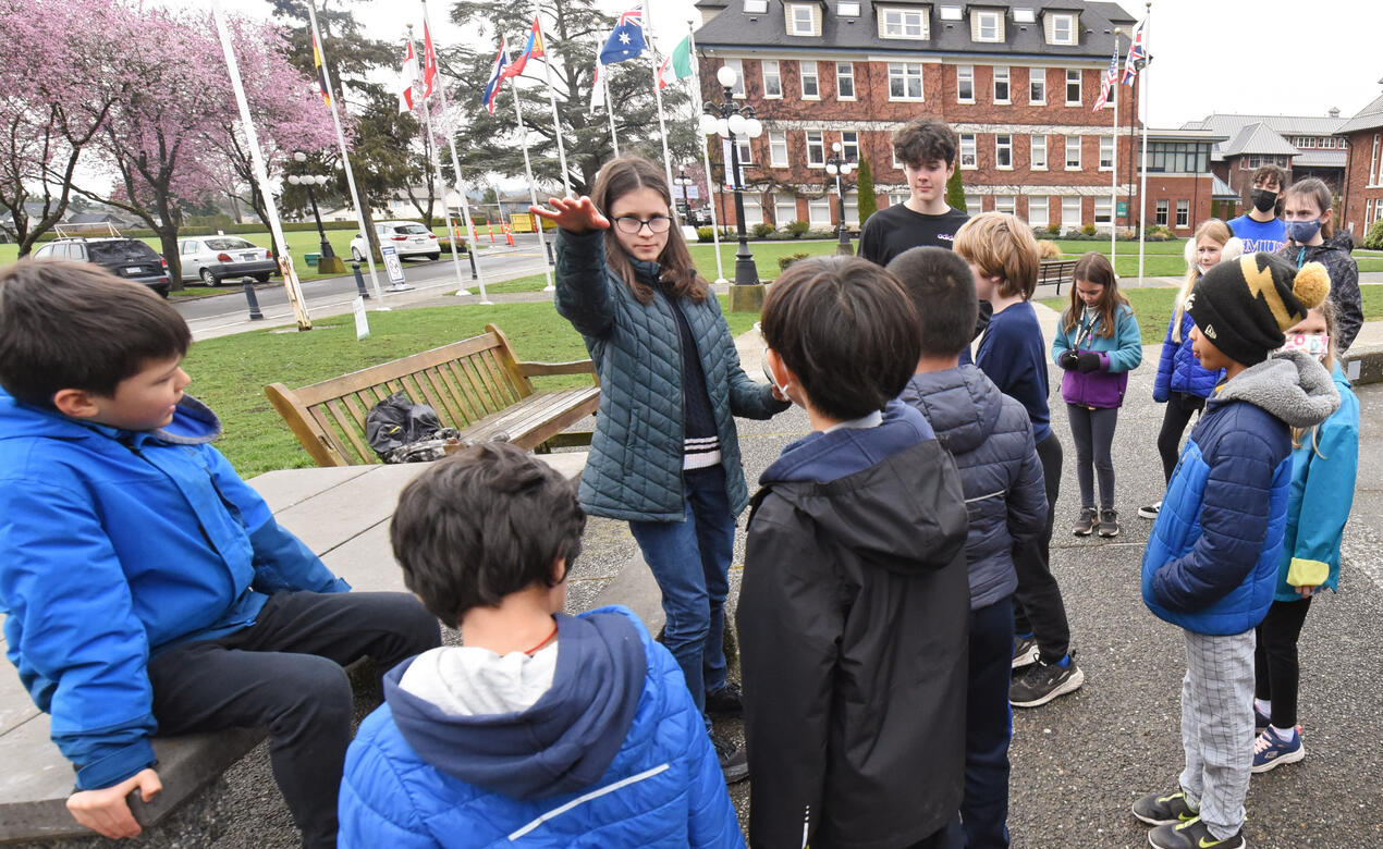
[[[629,531],[662,590],[662,644],[704,712],[707,690],[725,686],[725,596],[734,516],[722,466],[690,469],[682,480],[683,521],[631,521]]]

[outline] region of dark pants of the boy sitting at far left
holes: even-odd
[[[154,716],[160,734],[268,726],[303,845],[335,846],[353,712],[342,666],[368,655],[383,671],[440,643],[437,619],[405,593],[278,593],[254,625],[154,658]]]

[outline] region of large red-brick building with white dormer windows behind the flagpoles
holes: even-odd
[[[740,73],[734,97],[765,124],[740,140],[747,162],[745,221],[835,220],[834,180],[824,170],[831,145],[848,159],[867,159],[880,207],[909,191],[891,136],[903,122],[929,115],[960,136],[967,207],[1012,212],[1036,227],[1062,231],[1108,228],[1115,152],[1113,102],[1094,112],[1099,83],[1115,47],[1127,51],[1134,19],[1115,3],[1015,0],[701,0],[696,33],[703,97],[721,101],[715,72]],[[1138,214],[1137,171],[1130,170],[1129,120],[1133,88],[1117,86],[1119,200],[1129,225]],[[1210,133],[1171,131],[1151,140],[1167,167],[1180,169],[1181,148],[1205,148]],[[1173,149],[1174,148],[1174,149]],[[1153,156],[1156,158],[1156,156]],[[1191,225],[1209,214],[1212,180],[1180,170],[1152,174],[1149,192],[1177,202]],[[1159,177],[1159,178],[1155,178]],[[853,189],[855,176],[851,176]],[[1155,189],[1155,185],[1159,187]],[[721,206],[733,221],[733,202]],[[1153,205],[1149,203],[1149,220]],[[846,194],[845,218],[857,225],[857,200]]]

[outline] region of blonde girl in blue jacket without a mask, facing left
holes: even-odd
[[[1167,337],[1162,342],[1162,357],[1158,360],[1158,376],[1152,383],[1152,400],[1166,404],[1162,416],[1162,430],[1158,431],[1158,454],[1162,455],[1162,476],[1171,481],[1171,470],[1177,467],[1181,449],[1181,434],[1185,433],[1191,416],[1205,408],[1206,398],[1224,377],[1224,369],[1207,371],[1191,351],[1191,328],[1195,322],[1187,312],[1184,301],[1209,268],[1223,260],[1239,259],[1243,253],[1241,242],[1229,225],[1220,218],[1210,218],[1196,227],[1187,239],[1187,281],[1177,295],[1177,307],[1167,322]],[[1162,502],[1138,507],[1138,516],[1156,519]]]

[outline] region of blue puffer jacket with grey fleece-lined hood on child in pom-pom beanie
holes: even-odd
[[[1290,427],[1340,405],[1300,351],[1245,369],[1206,401],[1142,556],[1142,600],[1194,633],[1242,633],[1272,604],[1288,523]]]

